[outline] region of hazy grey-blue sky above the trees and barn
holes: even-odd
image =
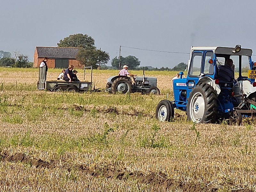
[[[96,47],[109,53],[110,61],[119,55],[120,45],[189,52],[191,45],[241,44],[256,55],[255,7],[253,0],[2,1],[0,50],[19,51],[33,61],[36,46],[57,46],[60,39],[82,33],[92,36]],[[153,67],[172,68],[189,59],[188,54],[125,47],[121,55],[134,55],[141,66]]]

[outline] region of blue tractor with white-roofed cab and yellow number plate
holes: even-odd
[[[256,113],[256,63],[251,56],[252,50],[241,45],[192,46],[187,77],[180,72],[180,77],[173,80],[174,100],[161,100],[156,107],[156,118],[170,121],[176,108],[186,111],[188,120],[194,123],[228,119],[230,125],[240,125],[242,117]],[[231,68],[238,72],[238,77],[223,82],[218,74],[228,59],[233,60]]]

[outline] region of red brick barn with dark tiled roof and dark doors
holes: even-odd
[[[68,68],[68,65],[74,65],[75,68],[84,68],[76,60],[78,47],[39,47],[37,46],[34,53],[34,68],[38,68],[44,57],[48,57],[48,68]]]

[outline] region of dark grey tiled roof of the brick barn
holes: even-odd
[[[80,47],[36,47],[38,57],[75,59]]]

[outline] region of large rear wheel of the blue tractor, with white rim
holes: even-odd
[[[199,83],[190,92],[187,104],[188,120],[194,123],[215,123],[218,114],[217,95],[211,85]]]

